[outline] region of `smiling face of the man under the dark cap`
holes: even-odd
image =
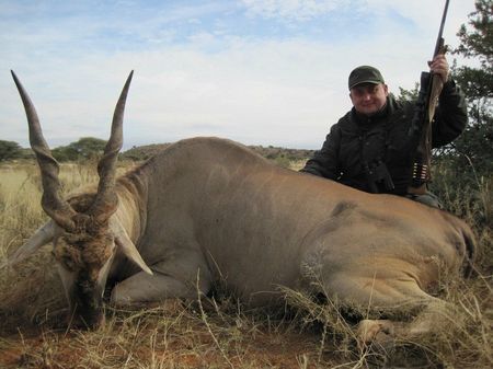
[[[386,105],[388,94],[387,84],[362,83],[351,89],[349,96],[356,112],[372,115]]]

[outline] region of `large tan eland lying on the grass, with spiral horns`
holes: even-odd
[[[118,305],[196,299],[221,280],[252,307],[280,303],[288,288],[382,312],[359,323],[364,342],[399,330],[419,335],[442,304],[434,296],[440,273],[470,269],[473,234],[450,214],[282,169],[230,140],[179,141],[116,178],[133,73],[98,164],[98,189],[64,198],[34,105],[12,74],[50,219],[4,266],[51,242],[78,326],[103,324],[108,280],[110,303]],[[399,322],[402,309],[416,318]]]

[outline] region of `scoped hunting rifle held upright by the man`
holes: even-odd
[[[449,0],[446,0],[433,58],[439,54],[443,55],[446,53],[443,34],[448,3]],[[413,141],[416,146],[412,163],[412,180],[408,187],[408,193],[412,195],[425,194],[426,184],[432,181],[432,122],[443,87],[444,81],[440,76],[434,74],[433,72],[421,73],[420,92],[413,120],[409,130],[409,135],[414,138]],[[417,142],[415,142],[416,139]]]

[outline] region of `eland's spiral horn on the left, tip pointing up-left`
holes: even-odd
[[[36,109],[34,108],[27,92],[24,90],[24,87],[21,84],[13,70],[11,70],[11,72],[21,95],[22,103],[24,104],[30,127],[30,143],[36,154],[42,174],[43,209],[58,226],[68,231],[73,230],[76,226],[72,221],[72,217],[77,215],[77,212],[61,197],[61,185],[58,178],[60,169],[58,162],[53,158],[49,147],[43,137]]]

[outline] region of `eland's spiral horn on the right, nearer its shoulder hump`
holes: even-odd
[[[95,217],[99,222],[107,220],[115,212],[118,205],[118,198],[115,193],[116,160],[123,146],[123,117],[133,76],[134,71],[128,76],[116,103],[115,113],[113,114],[112,132],[104,148],[103,158],[98,163],[100,183],[94,203],[91,205],[88,215]]]

